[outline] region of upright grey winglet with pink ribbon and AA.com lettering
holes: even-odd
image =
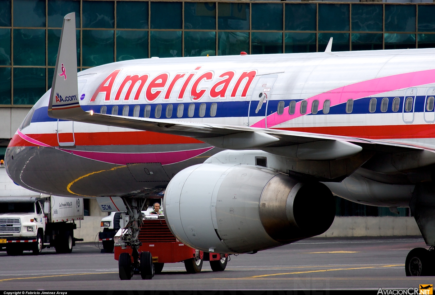
[[[67,119],[85,113],[80,108],[77,89],[77,49],[75,13],[65,15],[56,68],[51,86],[48,115],[51,118]]]

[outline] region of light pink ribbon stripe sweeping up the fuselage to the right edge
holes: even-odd
[[[362,81],[351,85],[346,85],[305,99],[306,101],[308,101],[307,112],[305,115],[311,114],[311,104],[315,99],[319,101],[319,110],[321,110],[323,108],[323,102],[325,102],[326,99],[329,99],[331,101],[332,107],[334,105],[339,105],[341,103],[347,102],[348,99],[355,100],[375,94],[380,94],[383,92],[389,92],[397,89],[415,87],[418,85],[425,85],[430,83],[435,83],[435,70],[392,75],[388,77],[375,78],[368,81]],[[262,119],[253,124],[252,127],[267,128],[303,116],[299,111],[300,104],[301,101],[296,103],[296,112],[293,115],[288,114],[288,107],[286,107],[282,115],[278,115],[278,113],[276,112],[268,115],[268,126],[265,125],[265,119]]]

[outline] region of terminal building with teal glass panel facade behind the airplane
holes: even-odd
[[[70,12],[78,71],[137,58],[317,52],[330,37],[332,51],[435,47],[432,0],[0,0],[0,159],[51,87]],[[342,199],[337,206],[340,215],[392,214]],[[96,202],[87,201],[86,209],[99,214]]]

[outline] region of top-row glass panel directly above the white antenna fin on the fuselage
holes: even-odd
[[[349,31],[349,4],[319,4],[319,31]]]

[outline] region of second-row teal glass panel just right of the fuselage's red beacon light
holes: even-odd
[[[252,54],[282,53],[282,33],[252,32]]]

